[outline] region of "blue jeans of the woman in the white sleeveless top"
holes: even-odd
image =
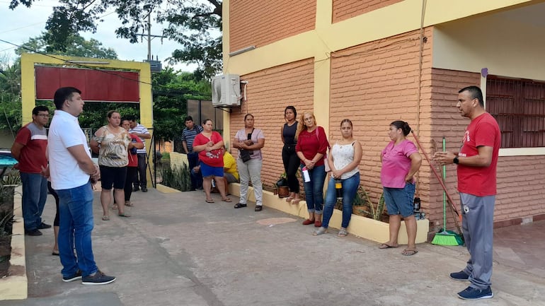
[[[348,228],[348,223],[350,223],[350,218],[352,218],[352,203],[356,196],[357,187],[360,187],[360,172],[341,182],[343,183],[343,223],[340,226]],[[328,228],[329,219],[333,216],[333,208],[336,203],[337,190],[335,190],[335,179],[331,177],[326,193],[326,207],[323,208],[322,228]]]

